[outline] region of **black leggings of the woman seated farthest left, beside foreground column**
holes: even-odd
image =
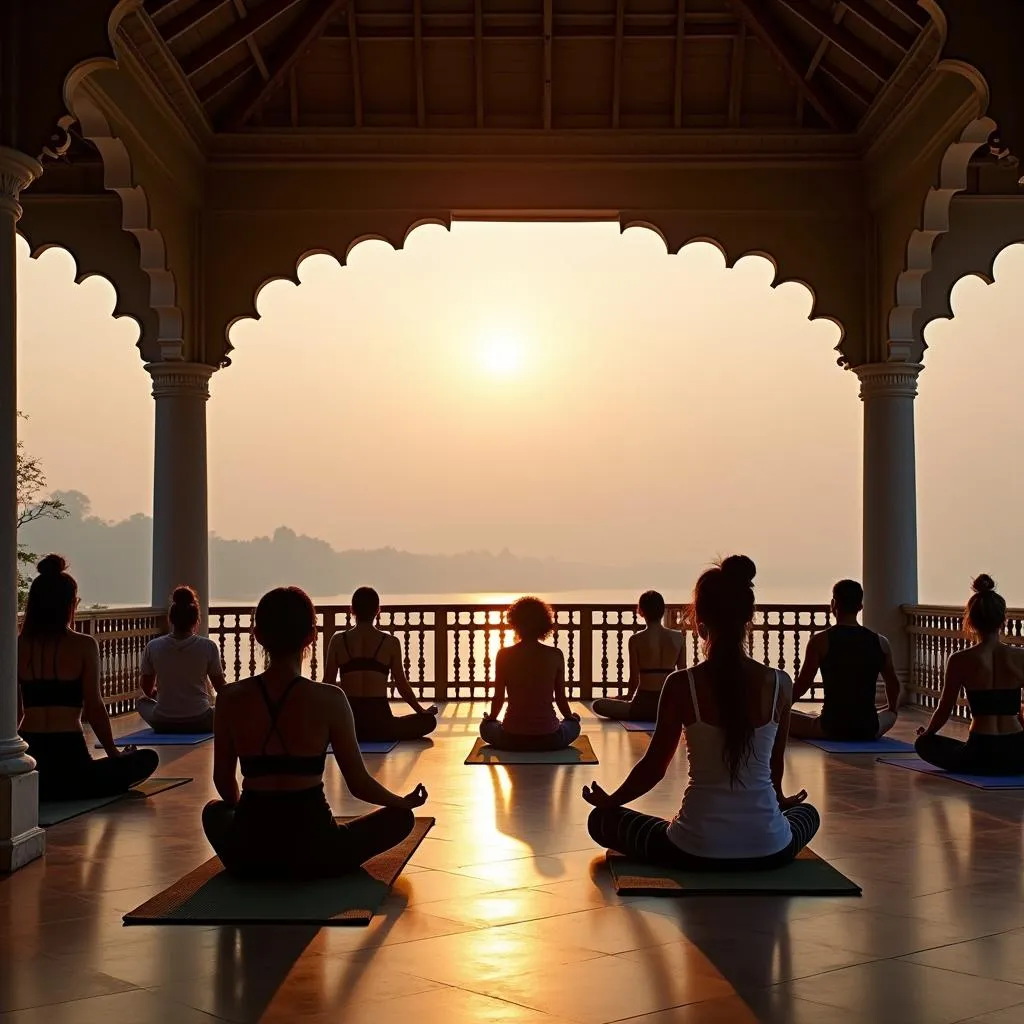
[[[156,751],[139,750],[114,758],[92,758],[85,734],[23,732],[36,759],[40,800],[91,800],[116,797],[148,778],[160,765]]]

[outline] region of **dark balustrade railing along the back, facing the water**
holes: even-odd
[[[505,605],[396,604],[381,609],[379,626],[401,641],[406,674],[417,694],[430,700],[483,699],[495,682],[495,657],[513,643],[505,622]],[[629,604],[559,604],[554,606],[553,642],[565,654],[569,696],[624,696],[629,688],[629,637],[643,628]],[[686,632],[688,664],[696,662],[699,641],[686,626],[686,609],[668,609],[666,622]],[[253,675],[262,666],[262,653],[252,631],[249,606],[210,609],[210,637],[220,647],[228,681]],[[793,675],[800,671],[807,639],[830,624],[826,605],[760,605],[748,638],[753,657]],[[318,635],[308,671],[323,675],[327,644],[339,630],[352,625],[344,606],[317,608]],[[811,693],[811,699],[817,694]]]

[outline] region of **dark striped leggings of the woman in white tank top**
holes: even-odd
[[[782,813],[793,830],[793,841],[767,857],[696,857],[680,850],[669,839],[669,822],[665,818],[641,814],[628,807],[595,807],[587,827],[598,846],[649,864],[683,871],[757,871],[791,863],[821,824],[817,810],[810,804],[798,804]]]

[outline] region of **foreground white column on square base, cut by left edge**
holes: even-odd
[[[0,146],[0,871],[43,855],[36,762],[17,734],[17,221],[18,196],[42,167]]]

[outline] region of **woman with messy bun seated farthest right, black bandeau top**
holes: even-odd
[[[945,771],[968,775],[1024,774],[1024,650],[1002,642],[1007,602],[989,575],[974,581],[967,602],[964,632],[973,640],[946,662],[939,703],[926,727],[918,730],[918,756]],[[940,736],[961,690],[971,708],[967,742]]]

